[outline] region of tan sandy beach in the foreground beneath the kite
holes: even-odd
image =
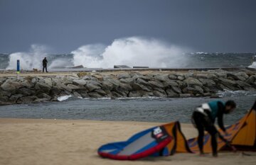
[[[108,142],[127,140],[134,133],[161,123],[94,120],[0,119],[0,164],[255,164],[255,156],[241,152],[211,155],[175,154],[171,157],[138,161],[102,159],[97,148]],[[187,138],[196,130],[188,124],[181,129]],[[255,154],[255,153],[252,153]]]

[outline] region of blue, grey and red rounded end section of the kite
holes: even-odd
[[[98,149],[98,154],[110,159],[134,160],[159,152],[171,140],[166,127],[152,127],[137,133],[126,142],[105,144]]]

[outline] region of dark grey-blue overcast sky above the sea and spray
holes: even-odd
[[[256,52],[255,0],[0,0],[0,52],[54,52],[159,38],[204,52]]]

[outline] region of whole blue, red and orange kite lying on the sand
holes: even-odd
[[[220,130],[219,130],[220,132]],[[256,150],[256,101],[249,112],[234,125],[226,127],[228,134],[223,135],[231,144],[245,150]],[[135,160],[143,157],[169,156],[177,152],[198,152],[197,137],[186,140],[178,121],[137,133],[125,142],[113,142],[98,149],[101,157],[119,160]],[[218,138],[218,150],[226,143]],[[204,136],[203,150],[212,152],[210,135]]]

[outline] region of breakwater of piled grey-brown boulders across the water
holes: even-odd
[[[72,76],[0,78],[0,105],[58,101],[59,96],[80,98],[203,97],[218,91],[255,91],[255,72],[154,72],[104,74],[79,72]]]

